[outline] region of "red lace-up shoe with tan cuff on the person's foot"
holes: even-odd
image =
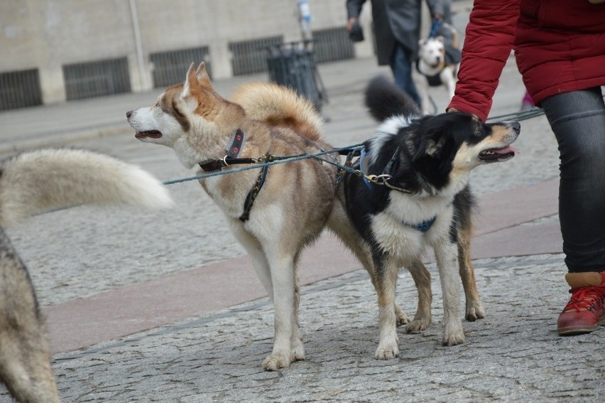
[[[605,272],[567,273],[572,298],[557,320],[559,335],[579,335],[605,325]]]

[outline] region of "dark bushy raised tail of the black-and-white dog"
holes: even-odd
[[[375,77],[366,87],[366,107],[378,122],[393,116],[420,116],[414,100],[384,76]]]

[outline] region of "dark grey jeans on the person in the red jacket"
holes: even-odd
[[[605,104],[601,88],[541,102],[560,152],[559,217],[569,272],[605,271]]]

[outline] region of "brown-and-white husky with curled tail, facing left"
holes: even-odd
[[[320,134],[321,117],[292,90],[249,84],[234,101],[239,103],[214,91],[204,63],[197,70],[192,64],[184,84],[169,87],[155,105],[126,117],[137,139],[169,146],[185,167],[199,165],[204,171],[331,148]],[[302,249],[319,237],[332,214],[335,178],[334,166],[305,159],[200,181],[273,301],[275,338],[263,361],[266,370],[305,358],[295,268]]]

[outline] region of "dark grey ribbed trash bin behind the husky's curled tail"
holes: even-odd
[[[268,46],[267,69],[269,80],[292,88],[321,112],[325,89],[309,45],[304,41]]]

